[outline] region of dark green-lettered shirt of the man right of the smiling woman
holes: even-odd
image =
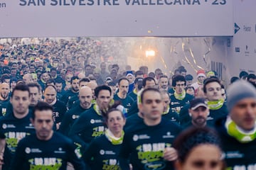
[[[174,169],[173,162],[166,162],[163,152],[171,147],[181,127],[169,120],[161,120],[154,126],[144,123],[124,132],[124,141],[119,154],[122,170],[129,169]],[[128,162],[129,160],[129,162]]]

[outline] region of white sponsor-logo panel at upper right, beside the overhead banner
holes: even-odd
[[[256,20],[255,0],[234,1],[235,35],[227,66],[231,76],[241,71],[256,74]]]

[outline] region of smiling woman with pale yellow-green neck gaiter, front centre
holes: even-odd
[[[92,140],[85,151],[84,160],[90,169],[121,169],[118,155],[124,138],[124,114],[112,108],[103,117],[107,125],[105,135]]]

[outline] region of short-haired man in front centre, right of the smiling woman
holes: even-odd
[[[177,154],[171,145],[181,128],[161,119],[164,103],[158,89],[145,89],[141,98],[144,122],[125,131],[120,166],[122,170],[129,169],[129,163],[133,169],[174,169]]]

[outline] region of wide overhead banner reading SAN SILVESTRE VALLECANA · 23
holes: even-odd
[[[233,35],[232,0],[0,0],[0,37]]]

